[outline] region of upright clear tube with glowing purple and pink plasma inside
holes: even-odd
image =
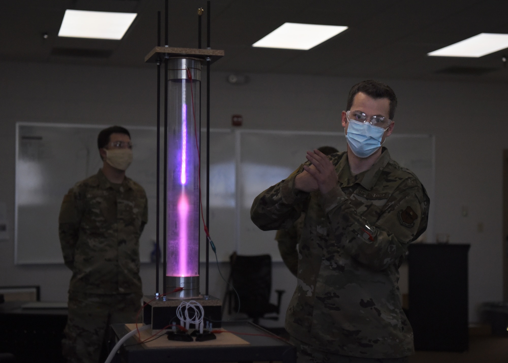
[[[166,276],[197,277],[201,61],[170,58],[168,74]]]

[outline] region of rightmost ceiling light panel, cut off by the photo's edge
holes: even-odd
[[[508,48],[508,34],[481,33],[458,43],[427,53],[440,57],[478,58]]]

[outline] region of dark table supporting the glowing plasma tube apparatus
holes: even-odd
[[[263,334],[268,337],[238,335],[250,345],[239,346],[208,346],[189,349],[186,347],[175,348],[144,348],[136,344],[137,340],[132,337],[120,348],[123,361],[128,363],[208,363],[208,362],[247,362],[247,361],[273,361],[283,363],[296,362],[296,347],[288,342],[276,338],[271,332],[250,322],[225,322],[222,327],[226,330],[248,334]],[[124,324],[113,324],[111,328],[114,335],[121,339],[129,331]],[[226,334],[226,333],[223,333]],[[228,333],[230,334],[230,333]],[[166,339],[162,337],[160,339]],[[114,343],[112,343],[114,345]],[[112,348],[112,347],[111,347]]]

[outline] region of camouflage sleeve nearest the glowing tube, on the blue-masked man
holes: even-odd
[[[254,199],[250,219],[263,231],[291,228],[300,217],[309,193],[295,189],[295,177],[303,171],[300,165],[287,179],[275,184]]]

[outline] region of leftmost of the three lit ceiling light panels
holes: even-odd
[[[136,15],[138,14],[66,10],[58,36],[120,40]]]

